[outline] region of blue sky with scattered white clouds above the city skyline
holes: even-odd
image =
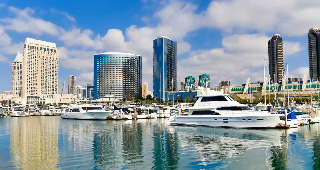
[[[78,85],[93,84],[94,54],[124,52],[142,56],[142,82],[152,91],[153,40],[159,36],[177,41],[179,82],[203,73],[211,75],[211,87],[219,77],[231,84],[262,81],[275,33],[283,38],[289,74],[308,77],[307,33],[320,27],[319,11],[316,1],[292,0],[2,0],[0,91],[11,91],[12,62],[27,37],[56,43],[59,90],[69,75]]]

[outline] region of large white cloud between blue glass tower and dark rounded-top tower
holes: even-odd
[[[220,81],[231,80],[231,84],[243,83],[247,77],[252,82],[263,80],[262,57],[268,59],[268,39],[261,34],[235,34],[222,39],[223,48],[190,53],[193,55],[178,62],[179,81],[203,73],[211,75],[212,87],[218,85],[218,77]],[[300,45],[293,48],[295,52],[301,49]]]

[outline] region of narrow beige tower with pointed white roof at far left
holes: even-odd
[[[12,95],[21,96],[22,88],[22,54],[18,53],[12,63]]]

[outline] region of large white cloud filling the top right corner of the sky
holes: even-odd
[[[316,1],[212,1],[205,12],[206,25],[226,32],[236,29],[276,31],[289,36],[305,35],[315,27]],[[230,12],[232,11],[232,12]]]

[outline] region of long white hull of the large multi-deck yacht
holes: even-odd
[[[280,121],[280,116],[175,116],[172,125],[228,127],[228,128],[275,128]],[[250,119],[250,120],[249,120]]]

